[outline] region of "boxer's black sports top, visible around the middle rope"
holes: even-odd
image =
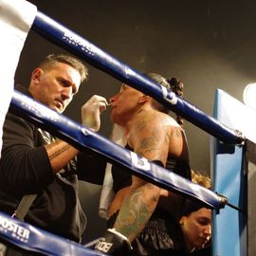
[[[133,151],[133,149],[128,145],[126,145],[125,148]],[[155,163],[162,166],[160,161],[155,161]],[[187,162],[168,157],[165,168],[174,172],[175,174],[191,179],[191,167],[190,164]],[[119,192],[125,187],[131,186],[132,184],[132,174],[128,173],[127,169],[120,165],[112,166],[112,176],[113,191],[115,193]]]

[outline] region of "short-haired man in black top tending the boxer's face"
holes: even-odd
[[[27,89],[16,89],[63,113],[87,76],[86,67],[78,59],[52,54],[32,71]],[[82,124],[98,131],[106,104],[104,98],[93,96],[82,106]],[[0,210],[13,214],[24,195],[36,194],[25,221],[80,242],[86,217],[78,198],[78,179],[86,179],[86,166],[95,157],[52,137],[11,109],[3,133]]]

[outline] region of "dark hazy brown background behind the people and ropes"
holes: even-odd
[[[256,80],[255,1],[215,0],[30,0],[38,9],[138,71],[155,71],[184,83],[184,98],[212,116],[216,88],[242,101]],[[63,52],[35,32],[27,37],[16,82],[27,84],[32,68],[47,54]],[[90,78],[66,110],[80,121],[82,104],[92,95],[109,98],[120,82],[88,64]],[[108,137],[109,112],[101,135]],[[192,168],[210,174],[210,136],[185,122]],[[89,225],[84,241],[99,236],[99,187],[82,183]]]

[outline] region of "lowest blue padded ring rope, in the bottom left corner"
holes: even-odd
[[[43,229],[35,228],[14,218],[12,219],[3,212],[0,212],[0,237],[11,245],[44,255],[103,255]]]

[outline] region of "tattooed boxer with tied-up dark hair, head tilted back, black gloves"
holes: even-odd
[[[182,82],[155,73],[145,75],[182,96]],[[191,178],[188,144],[179,117],[174,120],[168,108],[127,84],[110,101],[111,119],[124,129],[127,149]],[[122,247],[133,247],[127,255],[160,255],[174,246],[170,229],[177,207],[174,195],[121,169],[112,167],[116,196],[108,210],[108,228],[114,229],[107,230],[96,248],[113,255],[123,254]]]

